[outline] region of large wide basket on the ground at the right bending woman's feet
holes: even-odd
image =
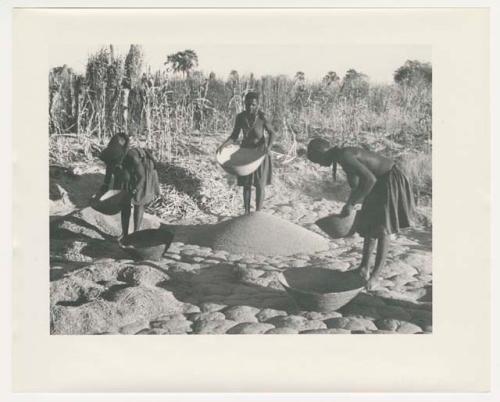
[[[357,271],[325,268],[290,268],[281,284],[301,310],[328,312],[345,306],[365,286]]]

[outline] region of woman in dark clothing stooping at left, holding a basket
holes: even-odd
[[[130,147],[125,133],[114,135],[101,152],[106,164],[106,176],[101,194],[106,191],[125,190],[127,198],[121,210],[122,235],[128,234],[132,205],[134,205],[134,231],[140,230],[146,204],[160,194],[156,162],[149,150]]]

